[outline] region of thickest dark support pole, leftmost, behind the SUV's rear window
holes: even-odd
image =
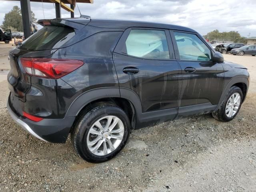
[[[30,0],[20,0],[21,14],[22,14],[22,24],[24,30],[25,39],[28,38],[32,32],[32,20],[31,20],[31,9]]]

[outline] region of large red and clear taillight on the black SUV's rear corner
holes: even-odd
[[[21,58],[20,62],[27,74],[50,79],[61,78],[84,64],[80,60],[52,58]]]

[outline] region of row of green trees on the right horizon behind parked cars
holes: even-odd
[[[234,43],[244,43],[246,44],[246,37],[242,37],[238,31],[230,32],[219,32],[218,29],[208,32],[204,35],[205,39],[208,39],[209,42],[212,41],[233,41]]]

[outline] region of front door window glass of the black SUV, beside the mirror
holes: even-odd
[[[208,61],[210,49],[195,34],[174,32],[181,60]]]

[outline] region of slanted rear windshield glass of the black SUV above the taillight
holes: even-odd
[[[73,28],[44,26],[38,32],[22,42],[20,48],[35,51],[57,49],[64,45],[74,35],[75,31]]]

